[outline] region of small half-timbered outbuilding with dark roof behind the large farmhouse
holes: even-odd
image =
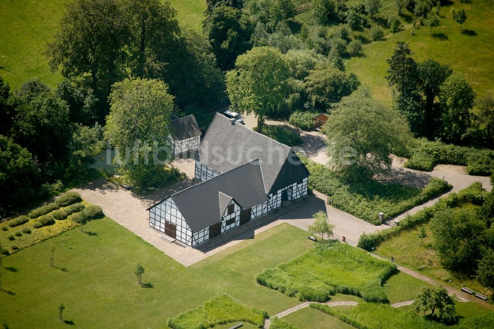
[[[197,150],[201,141],[201,130],[192,114],[183,118],[173,118],[170,135],[174,155]]]

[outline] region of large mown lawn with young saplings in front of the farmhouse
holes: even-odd
[[[298,303],[262,287],[254,275],[313,246],[288,224],[265,231],[185,268],[112,220],[105,218],[3,259],[0,324],[55,328],[57,306],[81,328],[163,328],[166,320],[226,292],[250,307],[276,314]],[[56,245],[49,267],[50,244]],[[134,266],[146,272],[143,288]],[[63,269],[63,270],[61,270]],[[117,307],[118,306],[118,307]]]

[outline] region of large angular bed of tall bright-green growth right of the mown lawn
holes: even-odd
[[[341,292],[370,302],[386,302],[381,285],[395,272],[396,266],[390,262],[358,248],[328,241],[288,263],[264,270],[255,279],[260,285],[299,300],[325,302],[329,295]]]

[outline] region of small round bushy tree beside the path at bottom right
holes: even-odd
[[[433,318],[448,324],[457,320],[454,300],[443,287],[422,288],[412,304],[412,309],[423,314],[431,311]]]

